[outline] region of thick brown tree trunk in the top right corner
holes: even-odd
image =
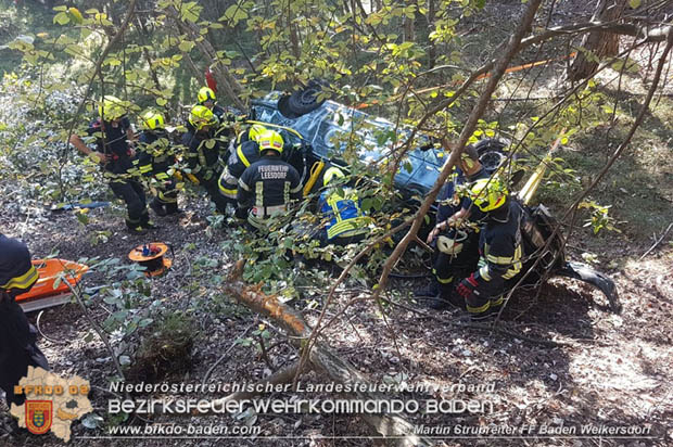
[[[594,10],[592,22],[614,22],[622,16],[627,0],[600,0]],[[619,35],[594,31],[585,35],[581,51],[568,68],[568,79],[576,81],[592,76],[598,68],[598,61],[619,54]],[[586,51],[591,52],[587,58]]]

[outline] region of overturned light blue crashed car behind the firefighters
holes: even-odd
[[[361,142],[357,155],[363,162],[376,162],[390,154],[390,149],[381,144],[380,135],[397,130],[404,141],[408,129],[397,128],[386,119],[374,117],[338,102],[316,101],[319,88],[308,86],[303,91],[292,94],[271,92],[252,103],[250,116],[259,123],[285,128],[283,138],[289,138],[294,146],[303,146],[302,156],[291,153],[288,159],[300,173],[306,183],[310,178],[310,168],[317,163],[339,159],[345,144],[339,144],[339,136],[354,133]],[[355,126],[355,127],[354,127]],[[428,137],[420,136],[417,145],[407,152],[404,167],[394,177],[394,187],[403,197],[427,194],[436,181],[445,163],[443,151],[434,148]],[[497,169],[506,155],[506,144],[498,140],[486,139],[477,143],[480,161],[487,171]],[[521,173],[522,174],[522,173]],[[306,191],[306,189],[305,189]],[[522,201],[523,202],[523,201]],[[598,288],[608,298],[613,311],[620,311],[614,282],[606,274],[591,267],[566,259],[563,238],[559,225],[544,205],[528,206],[521,221],[525,261],[521,273],[510,280],[518,284],[538,284],[551,276],[579,279]]]

